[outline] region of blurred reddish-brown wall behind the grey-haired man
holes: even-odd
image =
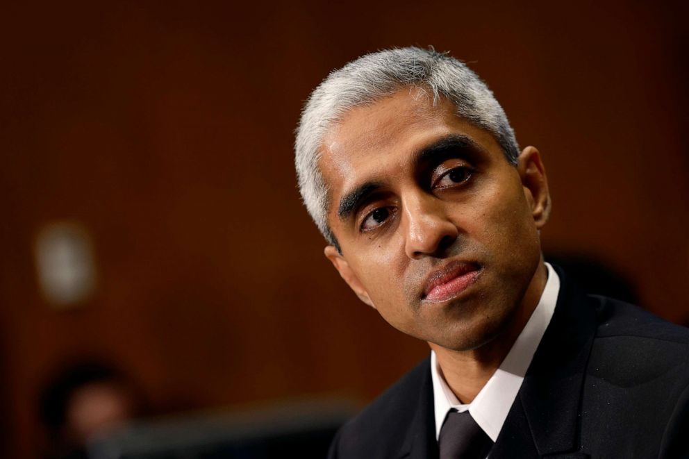
[[[470,62],[545,155],[545,248],[686,324],[686,8],[517,3],[3,6],[0,456],[35,456],[38,391],[72,356],[115,360],[161,409],[366,401],[425,356],[331,269],[292,166],[310,90],[383,47]],[[34,245],[65,220],[90,233],[98,284],[60,310]]]

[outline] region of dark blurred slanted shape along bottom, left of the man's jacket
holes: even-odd
[[[92,459],[322,459],[351,401],[312,398],[141,420],[94,437]]]

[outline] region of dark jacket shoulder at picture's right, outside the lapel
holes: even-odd
[[[582,443],[602,457],[672,451],[689,419],[689,329],[622,301],[590,301],[597,330],[583,391]]]

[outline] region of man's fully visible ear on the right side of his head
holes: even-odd
[[[531,215],[536,228],[542,228],[550,216],[550,193],[545,167],[536,147],[526,147],[518,158],[517,170],[524,186],[526,201],[531,206]]]

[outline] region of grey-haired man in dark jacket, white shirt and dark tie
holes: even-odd
[[[417,48],[360,57],[311,94],[295,150],[326,257],[431,347],[331,458],[689,454],[689,333],[544,262],[540,153],[517,147],[465,65]]]

